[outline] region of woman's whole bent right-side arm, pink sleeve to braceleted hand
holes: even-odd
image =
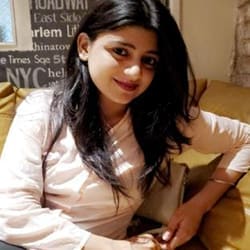
[[[202,111],[198,119],[183,128],[192,138],[193,149],[203,153],[222,153],[223,157],[201,191],[172,216],[168,231],[163,234],[170,249],[191,239],[203,215],[250,166],[249,125]]]

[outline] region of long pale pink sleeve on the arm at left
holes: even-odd
[[[0,239],[28,249],[82,249],[90,233],[40,204],[49,99],[32,94],[11,125],[0,162]]]

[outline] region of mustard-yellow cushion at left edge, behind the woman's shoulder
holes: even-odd
[[[15,112],[15,93],[8,82],[0,83],[0,154]]]

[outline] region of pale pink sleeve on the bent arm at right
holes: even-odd
[[[195,111],[196,112],[196,111]],[[183,126],[190,147],[201,153],[222,153],[218,167],[247,172],[250,167],[250,125],[239,120],[200,111]]]

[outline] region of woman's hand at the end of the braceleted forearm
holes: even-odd
[[[181,205],[170,218],[167,231],[162,234],[162,239],[167,242],[166,249],[175,249],[189,241],[197,233],[204,213],[195,201]]]

